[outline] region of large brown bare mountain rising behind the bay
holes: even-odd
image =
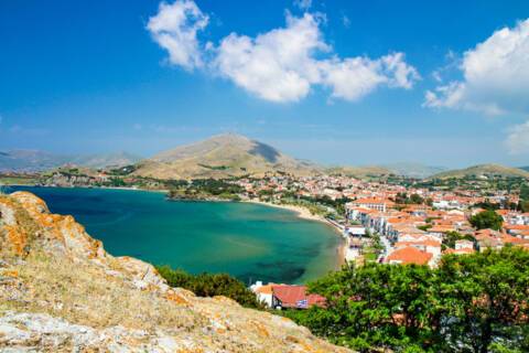
[[[220,179],[277,172],[309,175],[319,171],[315,164],[288,157],[269,145],[225,133],[143,160],[134,174],[158,179]]]

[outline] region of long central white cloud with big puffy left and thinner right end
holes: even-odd
[[[287,14],[287,26],[251,39],[231,33],[215,61],[218,72],[238,86],[272,101],[296,101],[312,85],[324,85],[332,96],[357,100],[380,85],[411,88],[419,78],[402,53],[368,57],[316,58],[331,52],[320,31],[320,18]]]

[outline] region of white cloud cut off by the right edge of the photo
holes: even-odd
[[[487,115],[529,111],[529,19],[465,52],[460,69],[464,78],[428,90],[424,106]]]

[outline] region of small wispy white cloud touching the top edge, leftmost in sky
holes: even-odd
[[[196,33],[208,23],[192,0],[177,0],[173,4],[160,3],[158,14],[147,24],[152,38],[169,52],[169,62],[193,69],[203,65]]]

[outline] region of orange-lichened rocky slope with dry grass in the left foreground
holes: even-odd
[[[35,195],[0,195],[1,352],[347,352],[225,297],[170,288]]]

